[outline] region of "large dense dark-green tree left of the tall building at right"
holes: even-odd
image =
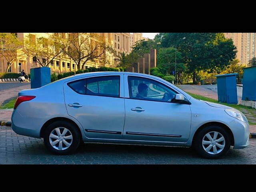
[[[163,47],[177,47],[194,84],[196,71],[221,70],[236,56],[232,40],[222,33],[160,33],[158,38]]]

